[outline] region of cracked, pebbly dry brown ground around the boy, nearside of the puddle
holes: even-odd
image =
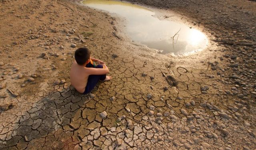
[[[118,18],[68,1],[3,0],[0,9],[0,149],[256,148],[255,47],[239,47],[252,55],[244,71],[242,57],[214,43],[178,58],[131,44]],[[69,80],[73,47],[85,45],[113,77],[90,95]]]

